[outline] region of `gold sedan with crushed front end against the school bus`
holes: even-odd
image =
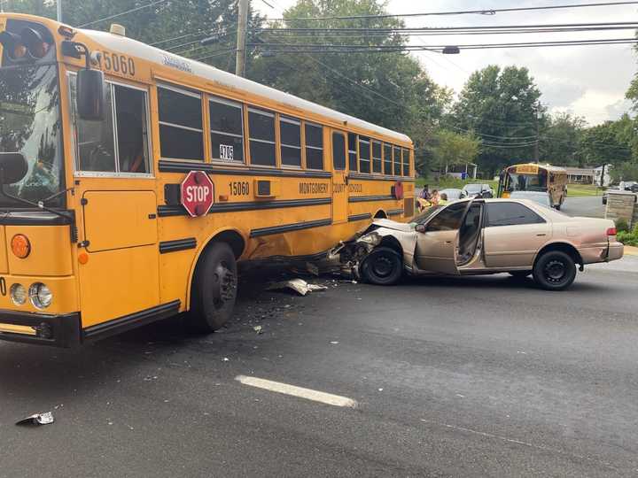
[[[525,199],[473,199],[432,206],[409,224],[375,220],[331,251],[344,270],[378,285],[403,274],[533,275],[564,290],[577,266],[623,256],[612,220],[572,218]]]

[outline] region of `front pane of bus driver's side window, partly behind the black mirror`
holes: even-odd
[[[105,117],[102,121],[82,120],[75,111],[76,77],[69,76],[71,105],[75,125],[75,156],[78,171],[115,173],[115,140],[113,132],[113,88],[105,82]]]

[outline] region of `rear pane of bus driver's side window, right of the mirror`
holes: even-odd
[[[146,93],[114,85],[120,173],[149,173]]]

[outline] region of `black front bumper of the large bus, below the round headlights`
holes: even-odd
[[[80,313],[48,315],[0,310],[0,340],[71,348],[80,344]]]

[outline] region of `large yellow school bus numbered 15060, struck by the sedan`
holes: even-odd
[[[121,28],[2,13],[0,32],[0,339],[68,347],[177,312],[210,332],[237,261],[321,257],[414,213],[406,135]]]

